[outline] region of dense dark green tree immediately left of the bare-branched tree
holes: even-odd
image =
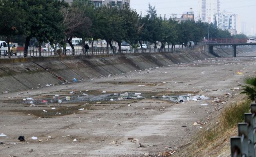
[[[25,10],[28,19],[25,24],[29,27],[25,50],[28,49],[32,37],[37,38],[40,47],[42,42],[56,43],[64,38],[64,18],[61,12],[61,8],[67,5],[64,0],[22,1],[22,8]],[[41,51],[41,48],[39,48],[39,51]],[[24,53],[24,57],[26,57],[26,53]]]

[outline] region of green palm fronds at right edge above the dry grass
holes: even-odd
[[[244,80],[245,85],[240,85],[243,87],[243,90],[240,94],[248,95],[249,99],[252,101],[255,100],[256,97],[256,76],[246,77]]]

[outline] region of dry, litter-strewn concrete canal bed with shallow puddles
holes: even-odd
[[[179,148],[232,103],[255,64],[213,58],[2,94],[0,157],[139,157]]]

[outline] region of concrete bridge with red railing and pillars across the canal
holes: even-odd
[[[248,38],[222,38],[222,39],[211,39],[206,42],[209,46],[209,52],[214,53],[214,46],[232,46],[233,47],[233,57],[236,57],[236,47],[237,46],[256,46],[256,42],[249,42]]]

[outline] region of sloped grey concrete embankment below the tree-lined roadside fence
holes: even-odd
[[[187,53],[145,53],[104,58],[0,64],[0,91],[14,92],[45,87],[46,84],[62,84],[57,76],[68,81],[72,81],[73,78],[86,80],[214,57],[205,51],[207,49],[200,50]]]

